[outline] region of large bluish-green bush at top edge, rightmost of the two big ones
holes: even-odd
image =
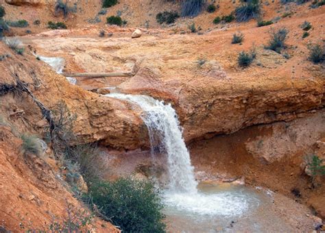
[[[259,0],[241,0],[241,5],[234,10],[238,22],[255,19],[260,13],[261,4]]]

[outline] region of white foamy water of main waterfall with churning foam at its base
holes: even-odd
[[[182,129],[176,111],[170,104],[145,95],[110,93],[106,97],[128,100],[143,110],[141,117],[147,125],[152,155],[167,157],[168,184],[163,190],[167,212],[209,216],[239,216],[258,201],[241,191],[197,191],[189,151],[182,138]]]

